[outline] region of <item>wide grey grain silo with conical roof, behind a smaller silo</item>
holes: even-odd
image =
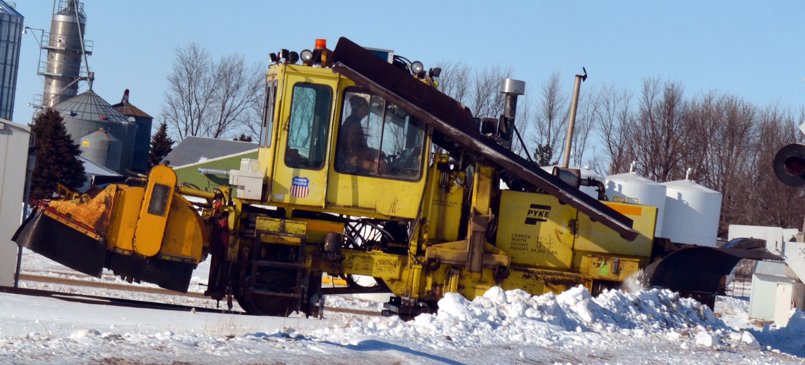
[[[100,129],[109,131],[115,138],[120,139],[122,149],[118,166],[107,164],[113,160],[93,160],[93,158],[89,157],[104,156],[102,151],[88,153],[87,160],[101,164],[105,168],[116,171],[121,175],[128,175],[126,168],[131,168],[137,124],[129,122],[128,117],[114,109],[109,102],[99,97],[97,93],[94,93],[92,87],[93,84],[90,82],[89,90],[56,104],[53,109],[59,110],[62,118],[64,118],[64,127],[67,127],[67,132],[72,135],[72,140],[76,141],[76,143],[81,143],[81,147],[94,148],[95,146],[92,146],[92,144],[84,146],[82,139]],[[101,147],[101,145],[102,143],[98,143],[97,147]],[[105,148],[105,145],[103,146]]]

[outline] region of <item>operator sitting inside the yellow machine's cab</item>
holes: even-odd
[[[380,151],[369,147],[367,143],[369,135],[362,123],[369,115],[369,103],[365,97],[353,95],[349,98],[349,106],[351,112],[344,119],[341,131],[338,133],[336,165],[341,171],[376,173],[380,168],[382,172],[386,168],[385,161],[382,160]]]

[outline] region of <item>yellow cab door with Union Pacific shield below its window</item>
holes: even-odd
[[[323,207],[337,77],[328,69],[285,71],[269,200]]]

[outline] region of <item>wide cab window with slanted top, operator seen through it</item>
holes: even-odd
[[[345,90],[336,147],[341,173],[419,179],[423,123],[364,89]]]

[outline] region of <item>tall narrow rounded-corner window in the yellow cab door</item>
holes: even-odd
[[[324,167],[331,99],[332,89],[327,85],[294,85],[285,147],[285,164],[289,168]]]

